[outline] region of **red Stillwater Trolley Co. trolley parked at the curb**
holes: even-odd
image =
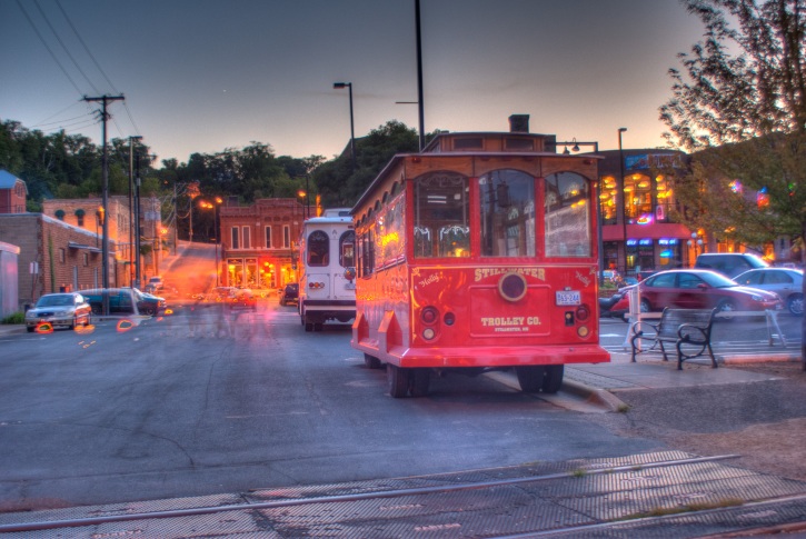
[[[432,372],[514,369],[556,392],[599,346],[595,156],[530,133],[441,133],[398,154],[352,208],[351,346],[392,397]]]

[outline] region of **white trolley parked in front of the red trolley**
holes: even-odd
[[[356,318],[356,232],[349,208],[307,219],[299,238],[299,317],[306,331]]]

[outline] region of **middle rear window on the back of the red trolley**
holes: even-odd
[[[534,257],[535,178],[495,170],[479,178],[482,257]]]

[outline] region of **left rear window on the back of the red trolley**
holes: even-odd
[[[468,180],[436,172],[415,181],[415,257],[470,256]]]

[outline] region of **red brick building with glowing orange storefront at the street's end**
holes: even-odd
[[[296,282],[296,249],[305,211],[305,206],[291,198],[221,207],[218,283],[273,289]]]

